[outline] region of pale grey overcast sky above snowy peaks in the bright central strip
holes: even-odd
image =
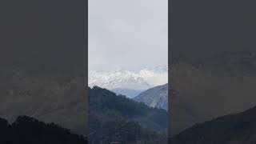
[[[168,62],[168,0],[89,0],[89,70]]]

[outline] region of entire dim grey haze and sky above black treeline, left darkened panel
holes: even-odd
[[[61,3],[61,5],[60,5]],[[85,3],[1,1],[0,117],[86,135]]]

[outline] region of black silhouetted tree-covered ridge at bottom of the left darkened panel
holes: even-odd
[[[1,144],[86,144],[87,138],[70,133],[54,123],[20,116],[12,124],[0,118]]]

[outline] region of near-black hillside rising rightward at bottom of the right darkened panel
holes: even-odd
[[[252,144],[256,142],[256,107],[192,126],[171,139],[172,144]]]

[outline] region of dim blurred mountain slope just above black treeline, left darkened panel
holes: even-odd
[[[17,67],[0,72],[0,117],[27,115],[86,135],[84,76],[28,74]]]

